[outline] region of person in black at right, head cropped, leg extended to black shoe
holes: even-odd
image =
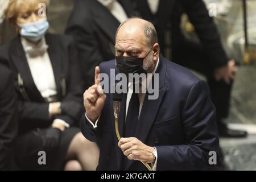
[[[203,0],[133,0],[138,14],[154,23],[161,53],[167,59],[192,68],[207,77],[217,125],[222,137],[245,137],[245,131],[230,130],[222,122],[228,117],[230,92],[237,67],[221,45],[220,35]],[[154,3],[153,3],[154,2]],[[181,31],[181,17],[188,15],[200,43],[189,41]]]

